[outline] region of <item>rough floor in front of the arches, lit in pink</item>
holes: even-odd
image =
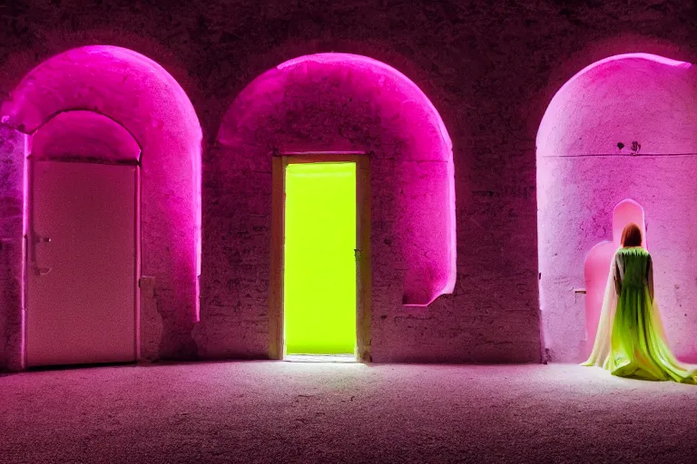
[[[697,386],[562,364],[23,372],[0,377],[0,462],[697,462]]]

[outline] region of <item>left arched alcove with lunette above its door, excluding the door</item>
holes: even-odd
[[[16,163],[25,164],[26,156],[41,151],[49,158],[128,160],[139,166],[139,275],[147,277],[151,294],[154,285],[156,301],[148,305],[162,317],[160,329],[152,331],[148,321],[141,321],[142,347],[148,357],[194,354],[191,327],[198,319],[201,255],[201,126],[179,83],[140,53],[86,46],[49,58],[26,74],[0,115],[5,140],[15,140],[8,156]],[[137,159],[130,160],[136,153]],[[26,195],[26,185],[19,189]],[[25,208],[27,202],[25,198]],[[12,228],[16,233],[17,227]],[[16,302],[5,314],[13,340],[7,363],[15,367],[24,350],[22,337],[16,335],[25,330],[20,307]]]

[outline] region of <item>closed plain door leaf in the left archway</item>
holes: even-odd
[[[34,161],[29,366],[136,359],[137,169]]]

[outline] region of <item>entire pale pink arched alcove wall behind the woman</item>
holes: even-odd
[[[555,361],[584,355],[585,254],[613,237],[613,208],[645,209],[656,288],[676,354],[695,351],[697,71],[647,53],[616,55],[555,94],[537,133],[537,225],[545,346]],[[634,143],[635,142],[635,143]]]

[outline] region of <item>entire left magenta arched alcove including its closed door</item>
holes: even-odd
[[[7,367],[195,355],[201,126],[179,83],[85,46],[27,73],[0,116],[22,205],[2,228],[25,242],[0,308]]]

